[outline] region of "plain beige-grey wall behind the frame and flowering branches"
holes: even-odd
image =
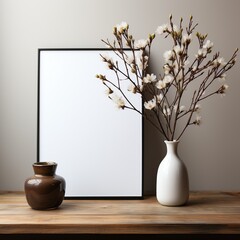
[[[215,49],[228,58],[240,47],[239,9],[237,0],[0,0],[0,190],[23,190],[36,161],[38,48],[104,47],[100,39],[110,37],[122,20],[136,38],[145,38],[170,13],[175,19],[192,14],[199,31],[209,33]],[[202,126],[189,129],[181,140],[179,154],[192,190],[240,189],[239,75],[237,63],[228,74],[227,96],[202,104]],[[147,125],[146,193],[154,192],[164,153],[161,139]]]

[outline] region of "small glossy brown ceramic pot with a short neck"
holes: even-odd
[[[65,195],[65,180],[55,174],[54,162],[33,164],[35,175],[26,179],[25,194],[28,204],[33,209],[46,210],[59,207]]]

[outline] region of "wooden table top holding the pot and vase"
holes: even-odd
[[[240,192],[191,192],[187,205],[143,200],[64,200],[32,210],[24,193],[0,192],[0,234],[240,234]]]

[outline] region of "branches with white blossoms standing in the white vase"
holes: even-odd
[[[116,76],[114,80],[102,74],[96,75],[107,87],[108,97],[118,108],[143,115],[167,140],[179,140],[188,126],[201,123],[199,102],[215,94],[225,95],[228,85],[221,82],[225,81],[226,72],[236,63],[238,49],[227,62],[219,52],[211,57],[213,43],[207,40],[207,34],[199,32],[196,33],[199,48],[195,56],[189,55],[197,26],[192,16],[185,29],[182,18],[177,26],[170,16],[169,24],[159,26],[147,39],[136,41],[129,33],[129,25],[122,22],[113,29],[113,42],[102,40],[118,59],[101,54],[103,62]],[[159,73],[158,77],[147,71],[156,34],[173,41],[172,48],[163,54],[163,73]],[[123,64],[120,65],[119,61]],[[127,82],[129,85],[126,89]],[[215,83],[220,83],[220,86],[216,87]],[[194,89],[190,101],[185,94],[188,89]],[[141,95],[145,111],[134,106],[126,90]],[[153,118],[149,117],[148,111],[153,113]],[[179,125],[179,121],[185,123]]]

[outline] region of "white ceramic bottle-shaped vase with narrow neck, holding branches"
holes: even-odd
[[[157,172],[156,195],[160,204],[180,206],[188,201],[188,172],[177,153],[179,141],[165,141],[167,154]]]

